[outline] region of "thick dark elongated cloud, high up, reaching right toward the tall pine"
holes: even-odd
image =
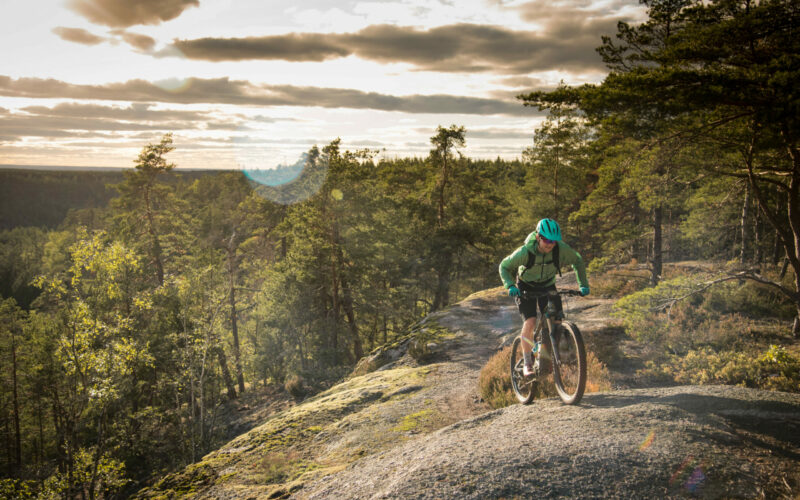
[[[422,70],[525,74],[551,69],[604,69],[595,48],[616,19],[553,21],[552,30],[514,31],[453,24],[428,30],[388,24],[357,33],[289,33],[265,37],[175,40],[160,55],[189,59],[326,61],[357,56],[379,63],[409,63]]]

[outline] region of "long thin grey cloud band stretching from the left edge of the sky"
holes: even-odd
[[[129,80],[105,85],[76,85],[54,79],[0,75],[0,95],[165,103],[215,103],[252,106],[318,106],[405,113],[531,116],[518,102],[454,95],[394,96],[353,89],[258,85],[228,78],[189,78],[181,82]]]

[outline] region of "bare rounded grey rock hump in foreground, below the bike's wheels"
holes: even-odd
[[[796,498],[800,395],[729,386],[589,394],[465,420],[298,498]]]

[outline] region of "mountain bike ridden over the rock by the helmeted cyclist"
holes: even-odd
[[[537,321],[533,332],[535,342],[533,349],[540,358],[538,372],[529,377],[523,375],[525,361],[522,356],[521,335],[514,339],[511,347],[511,386],[522,404],[533,401],[536,388],[546,375],[545,362],[541,355],[543,341],[547,352],[550,353],[553,382],[561,400],[568,405],[577,404],[586,389],[586,348],[583,345],[583,337],[572,322],[562,321],[561,326],[556,328],[557,325],[553,321],[556,311],[552,301],[552,297],[556,295],[581,296],[581,293],[577,290],[548,291],[542,294],[523,292],[523,297],[526,299],[534,300],[548,296],[548,300],[543,314],[544,321],[541,319]]]

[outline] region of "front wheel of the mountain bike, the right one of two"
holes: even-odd
[[[553,363],[553,381],[561,400],[577,404],[586,390],[586,349],[583,337],[574,323],[564,321],[556,335],[558,363]]]

